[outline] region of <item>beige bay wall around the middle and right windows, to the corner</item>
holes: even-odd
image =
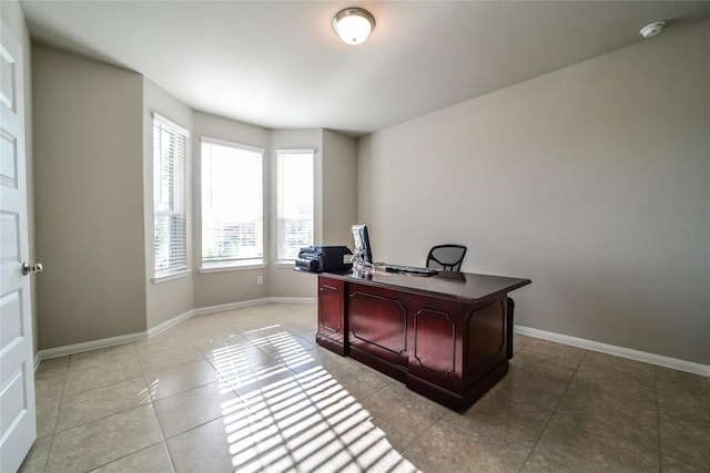
[[[315,150],[315,241],[318,245],[352,246],[349,226],[356,215],[356,163],[357,141],[332,131],[314,130],[264,130],[257,126],[215,117],[195,112],[194,156],[200,155],[200,137],[230,141],[263,147],[264,208],[266,209],[264,236],[265,265],[258,268],[219,273],[195,273],[194,306],[210,308],[263,298],[313,298],[316,280],[297,274],[293,265],[277,265],[276,241],[276,150]],[[200,163],[193,165],[194,248],[200,248]],[[195,251],[194,267],[200,267]],[[263,284],[257,284],[257,277]]]

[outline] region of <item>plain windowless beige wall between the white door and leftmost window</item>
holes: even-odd
[[[145,331],[143,80],[33,44],[39,348]]]

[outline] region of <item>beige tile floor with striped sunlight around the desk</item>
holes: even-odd
[[[516,336],[466,413],[314,345],[315,305],[44,360],[22,472],[710,471],[710,378]]]

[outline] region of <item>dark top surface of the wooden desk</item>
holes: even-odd
[[[321,276],[386,289],[454,298],[473,304],[494,299],[531,282],[530,279],[450,271],[439,271],[434,276],[419,276],[366,270],[322,273]]]

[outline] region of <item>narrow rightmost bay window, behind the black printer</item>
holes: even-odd
[[[278,260],[293,260],[313,245],[313,150],[276,151]]]

